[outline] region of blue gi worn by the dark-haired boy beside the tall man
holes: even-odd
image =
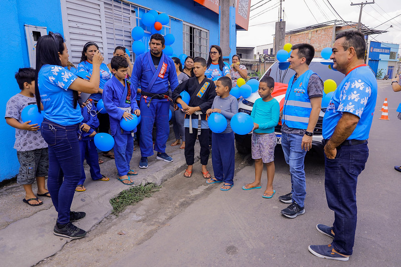
[[[131,108],[131,113],[139,109],[136,101],[137,87],[129,85],[130,82],[127,80],[124,81],[125,86],[113,76],[104,85],[102,95],[104,107],[110,116],[110,132],[114,137],[114,158],[118,176],[127,175],[133,153],[132,134],[120,127],[122,114],[124,114],[124,110],[120,108]],[[137,128],[133,130],[133,132],[136,131]]]

